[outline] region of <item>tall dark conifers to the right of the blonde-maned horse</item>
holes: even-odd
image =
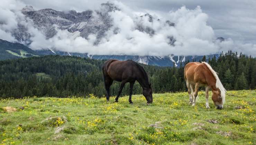
[[[228,51],[208,60],[227,90],[256,88],[256,58]]]

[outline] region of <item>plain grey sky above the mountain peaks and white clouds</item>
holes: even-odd
[[[107,0],[21,0],[34,9],[84,11],[97,9]],[[182,6],[195,9],[201,6],[208,14],[210,25],[217,37],[256,44],[256,0],[118,0],[135,11],[154,12],[165,15]]]

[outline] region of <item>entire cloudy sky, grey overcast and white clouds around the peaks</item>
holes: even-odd
[[[106,7],[101,7],[103,2],[107,1],[1,0],[0,39],[19,42],[13,33],[22,26],[31,36],[28,47],[37,50],[53,48],[90,55],[139,56],[209,55],[232,50],[256,56],[256,0],[110,1],[120,10],[108,11],[113,26],[104,32],[97,45],[94,45],[97,33],[90,33],[85,39],[77,35],[79,31],[71,33],[57,26],[57,34],[46,39],[45,32],[37,29],[33,21],[20,11],[27,5],[35,10],[105,12]],[[149,22],[148,16],[140,17],[146,13],[155,20]],[[98,19],[95,11],[93,18]],[[174,22],[175,27],[166,25],[166,20]],[[138,25],[154,30],[155,34],[138,31]],[[114,32],[116,28],[117,33]],[[76,37],[71,37],[73,35]],[[176,40],[173,46],[170,45],[170,37]],[[216,41],[217,37],[224,37],[225,41]]]

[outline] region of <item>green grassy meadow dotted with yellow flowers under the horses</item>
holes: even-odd
[[[211,100],[205,108],[204,92],[199,96],[195,107],[186,92],[153,94],[152,105],[142,95],[132,96],[133,105],[127,96],[119,103],[93,95],[2,99],[0,144],[256,143],[255,90],[228,91],[222,110]],[[7,113],[6,106],[17,111]]]

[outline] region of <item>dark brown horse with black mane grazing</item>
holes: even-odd
[[[116,97],[116,101],[118,102],[119,95],[122,92],[122,89],[125,86],[125,83],[130,83],[130,96],[129,102],[131,101],[132,88],[137,80],[140,86],[143,88],[143,95],[145,96],[147,103],[152,103],[152,89],[151,84],[148,81],[148,75],[143,67],[141,67],[137,62],[132,60],[119,61],[116,59],[110,59],[104,62],[103,67],[103,76],[104,76],[104,84],[107,91],[107,101],[109,100],[109,88],[113,83],[113,80],[121,82],[121,86],[118,91],[118,95]]]

